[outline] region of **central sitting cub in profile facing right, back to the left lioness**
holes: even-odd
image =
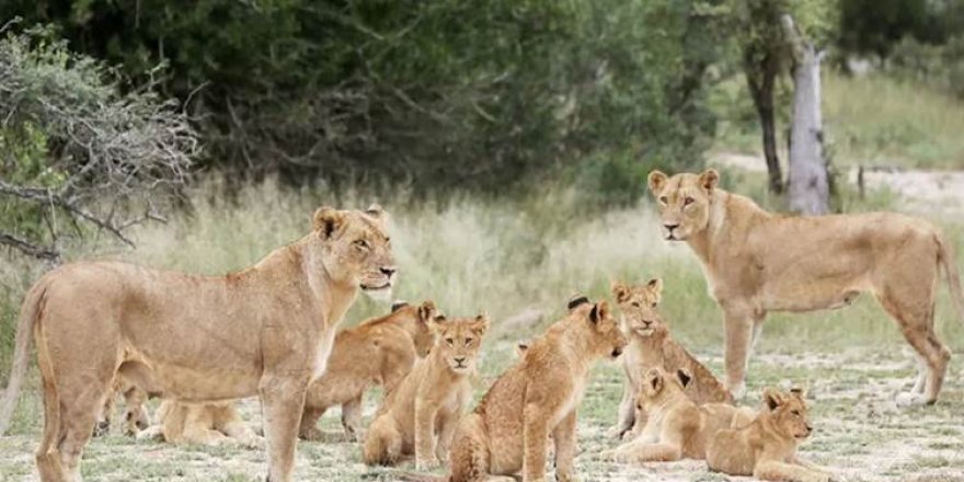
[[[576,409],[589,367],[596,359],[619,356],[627,341],[606,301],[593,305],[578,297],[569,310],[462,418],[450,455],[450,482],[519,471],[525,481],[542,480],[550,436],[556,480],[572,480]]]

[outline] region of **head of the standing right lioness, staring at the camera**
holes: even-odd
[[[715,170],[702,174],[650,173],[650,192],[659,205],[663,236],[670,241],[686,241],[710,223],[710,199],[720,181]]]

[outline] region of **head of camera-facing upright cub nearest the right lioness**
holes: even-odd
[[[612,296],[616,297],[622,314],[622,329],[626,333],[643,337],[666,335],[666,323],[656,310],[662,294],[663,280],[658,278],[640,286],[612,282]]]

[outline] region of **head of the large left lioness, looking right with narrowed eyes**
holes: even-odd
[[[391,297],[395,282],[394,255],[387,229],[388,214],[378,205],[368,209],[314,211],[314,240],[321,263],[333,282],[362,288],[376,299]]]

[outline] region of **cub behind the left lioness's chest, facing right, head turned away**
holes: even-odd
[[[328,362],[328,371],[311,383],[305,399],[299,436],[321,438],[315,424],[334,405],[342,406],[342,427],[348,441],[356,441],[362,431],[362,398],[375,386],[386,392],[409,375],[418,357],[428,354],[435,342],[431,328],[441,322],[435,303],[411,306],[395,302],[392,312],[341,331]]]

